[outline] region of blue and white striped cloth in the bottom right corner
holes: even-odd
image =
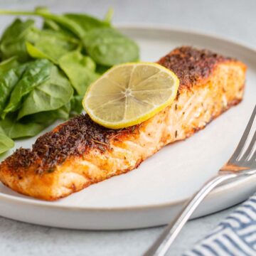
[[[256,256],[256,194],[183,256]]]

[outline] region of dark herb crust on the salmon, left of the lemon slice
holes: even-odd
[[[110,139],[134,132],[137,126],[107,129],[87,114],[80,114],[39,137],[31,149],[18,149],[6,159],[11,170],[21,174],[33,165],[37,174],[52,173],[68,156],[82,156],[87,149],[110,149]],[[118,138],[116,138],[118,139]],[[22,175],[21,175],[22,176]]]

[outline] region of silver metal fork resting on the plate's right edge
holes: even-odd
[[[203,187],[196,192],[193,197],[183,206],[181,213],[166,227],[164,232],[154,242],[154,244],[144,253],[144,256],[163,256],[169,250],[172,242],[174,242],[178,233],[183,228],[183,225],[188,221],[188,218],[192,215],[194,210],[198,207],[199,203],[203,201],[210,191],[218,186],[223,181],[227,181],[232,178],[238,178],[241,176],[250,176],[256,174],[256,132],[252,129],[252,124],[255,122],[256,105],[250,117],[250,120],[245,128],[245,132],[242,134],[242,138],[235,149],[234,154],[228,160],[217,176],[211,178]],[[247,146],[247,139],[252,134],[253,137]],[[247,146],[247,148],[246,148]]]

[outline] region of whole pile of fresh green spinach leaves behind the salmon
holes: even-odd
[[[105,70],[137,61],[134,41],[87,14],[55,15],[46,8],[0,14],[40,16],[11,23],[0,41],[0,154],[13,139],[33,137],[56,119],[82,111],[87,87]]]

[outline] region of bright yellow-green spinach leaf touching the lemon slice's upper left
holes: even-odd
[[[79,95],[85,95],[87,87],[99,77],[94,61],[78,50],[63,55],[59,65]]]

